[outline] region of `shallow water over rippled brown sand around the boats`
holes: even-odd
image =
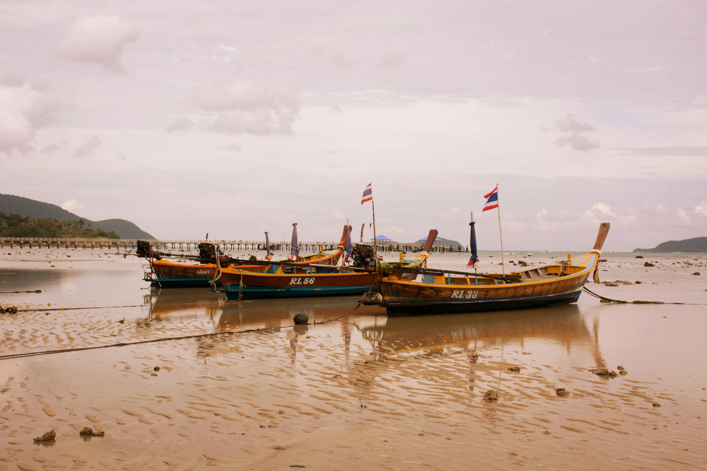
[[[604,254],[602,280],[641,284],[588,285],[696,305],[583,294],[488,314],[389,319],[361,306],[327,322],[358,298],[226,302],[149,290],[141,261],[105,251],[5,252],[0,305],[42,310],[0,316],[0,356],[224,334],[0,359],[0,470],[707,467],[704,256]],[[467,259],[432,254],[428,266],[463,270]],[[496,259],[481,254],[480,270],[500,271]],[[12,293],[25,290],[42,292]],[[300,311],[316,324],[292,328]],[[232,333],[252,329],[264,330]],[[588,371],[619,365],[626,376]],[[489,389],[497,403],[482,400]],[[105,436],[84,439],[87,426]],[[55,441],[33,443],[50,429]]]

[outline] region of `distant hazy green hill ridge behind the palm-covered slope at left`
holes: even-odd
[[[105,232],[116,232],[123,239],[154,239],[151,234],[140,229],[132,222],[124,219],[104,219],[92,221],[60,208],[52,203],[23,198],[22,196],[0,194],[0,212],[18,214],[29,217],[42,217],[59,221],[75,221],[83,219],[93,229],[103,229]]]

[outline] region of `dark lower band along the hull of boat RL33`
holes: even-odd
[[[547,306],[549,304],[570,304],[577,302],[581,290],[554,294],[553,296],[522,297],[515,299],[479,299],[460,302],[396,302],[383,304],[388,316],[414,316],[419,314],[452,314],[464,312],[505,311]]]

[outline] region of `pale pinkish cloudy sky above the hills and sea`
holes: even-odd
[[[0,193],[160,239],[707,236],[704,1],[0,4]]]

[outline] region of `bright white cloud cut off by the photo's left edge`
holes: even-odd
[[[51,124],[63,107],[47,83],[28,83],[16,75],[0,78],[0,153],[28,150],[37,130]]]

